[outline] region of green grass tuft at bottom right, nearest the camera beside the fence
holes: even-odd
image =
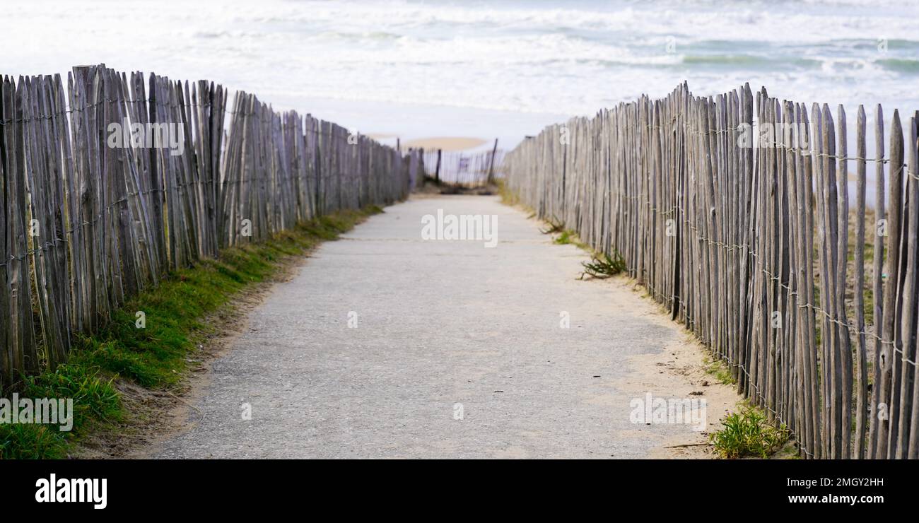
[[[788,427],[770,425],[765,415],[750,406],[729,415],[721,425],[723,428],[709,438],[715,452],[728,460],[766,458],[789,439]]]

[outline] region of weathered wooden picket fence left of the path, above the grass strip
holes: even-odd
[[[0,376],[53,368],[138,291],[223,248],[404,198],[423,172],[334,123],[104,65],[0,85]],[[125,129],[128,128],[128,129]]]

